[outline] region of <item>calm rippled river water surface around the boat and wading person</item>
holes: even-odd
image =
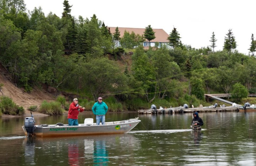
[[[24,117],[0,118],[0,165],[148,166],[256,165],[256,112],[199,113],[203,130],[191,131],[192,113],[108,113],[106,121],[139,117],[118,135],[26,138]],[[94,118],[91,113],[79,114]],[[67,124],[67,116],[35,117],[37,124]]]

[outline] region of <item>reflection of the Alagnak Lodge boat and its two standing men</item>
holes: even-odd
[[[128,149],[140,149],[140,141],[133,134],[113,134],[76,137],[26,137],[24,164],[108,166],[127,154]],[[123,151],[115,147],[124,146]],[[109,152],[110,151],[110,152]],[[51,154],[51,155],[49,155]],[[111,156],[109,156],[111,154]],[[111,159],[111,162],[109,161]]]

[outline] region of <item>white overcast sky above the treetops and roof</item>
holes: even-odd
[[[24,0],[27,10],[42,7],[47,16],[50,11],[61,17],[64,0]],[[207,47],[212,32],[216,50],[222,50],[228,29],[232,29],[237,50],[248,55],[251,35],[256,40],[254,0],[69,0],[71,15],[84,19],[96,14],[109,27],[164,29],[173,27],[180,33],[181,42],[193,48]]]

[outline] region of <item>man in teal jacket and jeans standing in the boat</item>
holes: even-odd
[[[105,102],[102,102],[102,97],[98,98],[98,102],[95,102],[92,107],[92,112],[96,115],[96,124],[105,124],[105,114],[108,111],[108,106]]]

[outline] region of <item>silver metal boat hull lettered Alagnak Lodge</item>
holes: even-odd
[[[138,123],[139,119],[128,119],[117,122],[107,122],[105,125],[79,124],[78,126],[68,126],[64,124],[59,125],[36,125],[34,135],[36,137],[60,137],[60,136],[75,136],[75,135],[100,135],[100,134],[122,134],[132,130]],[[24,126],[22,126],[25,135],[28,133]]]

